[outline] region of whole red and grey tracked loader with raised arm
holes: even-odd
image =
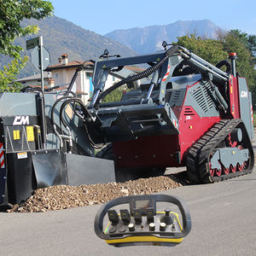
[[[96,143],[110,143],[98,156],[115,161],[117,177],[187,166],[191,181],[213,183],[252,172],[252,96],[236,73],[236,54],[215,67],[181,46],[163,46],[96,61],[86,126]],[[104,90],[109,72],[140,64],[149,67]],[[123,84],[132,89],[119,102],[102,102]]]

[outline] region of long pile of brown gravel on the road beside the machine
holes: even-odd
[[[8,212],[48,212],[101,204],[124,195],[148,195],[182,186],[174,175],[139,178],[125,183],[58,185],[37,189],[29,199]]]

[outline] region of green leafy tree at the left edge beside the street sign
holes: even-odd
[[[0,90],[16,91],[20,85],[9,83],[16,79],[20,69],[25,67],[27,56],[20,56],[22,48],[14,44],[17,37],[37,33],[38,26],[20,26],[24,19],[43,19],[53,13],[53,6],[43,0],[0,0],[0,53],[12,61],[0,70]]]

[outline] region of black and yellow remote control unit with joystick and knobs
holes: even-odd
[[[171,195],[119,197],[104,204],[95,218],[96,235],[114,247],[175,246],[190,230],[188,208]]]

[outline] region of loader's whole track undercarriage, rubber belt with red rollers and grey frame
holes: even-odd
[[[235,129],[241,129],[242,139],[230,137]],[[218,168],[212,166],[211,160],[217,148],[229,150],[230,154],[241,153],[241,160],[236,157],[231,158],[228,164],[224,164],[218,158]],[[247,149],[247,151],[246,151]],[[241,119],[224,119],[213,125],[212,128],[203,135],[197,143],[189,149],[187,157],[187,171],[189,179],[195,183],[213,183],[238,177],[253,171],[254,154],[252,143],[250,142],[245,126]]]

